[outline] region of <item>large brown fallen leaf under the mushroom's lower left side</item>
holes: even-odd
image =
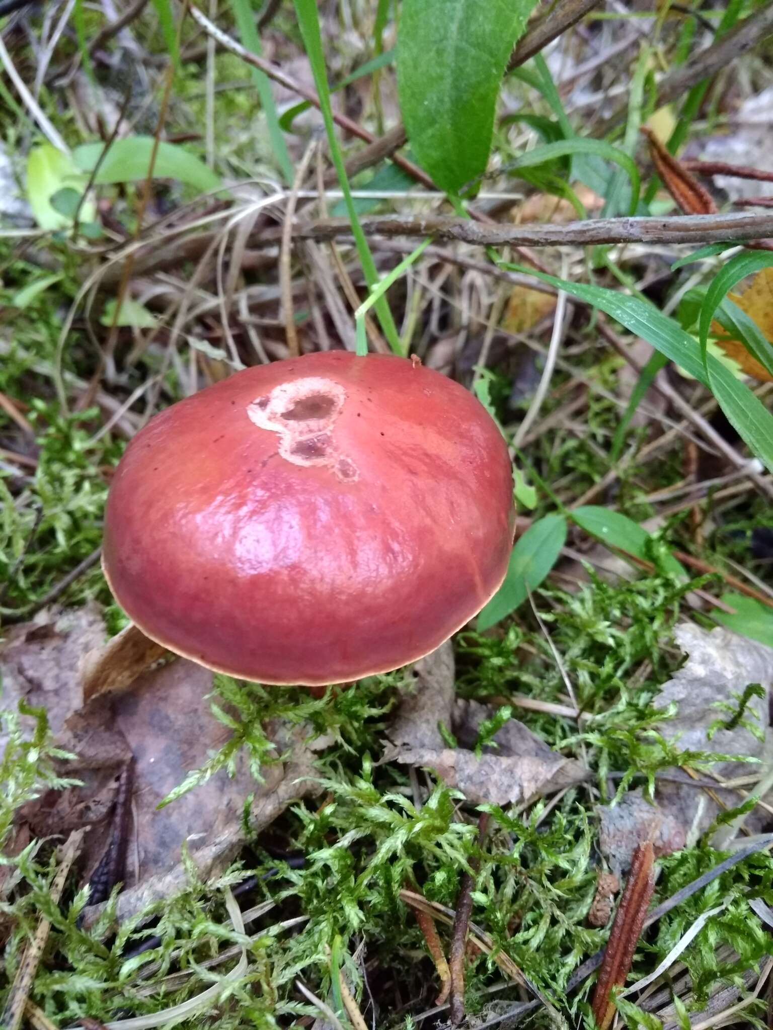
[[[147,900],[166,896],[165,891],[184,886],[179,864],[183,843],[202,877],[225,867],[243,842],[243,803],[250,793],[253,826],[261,829],[293,800],[318,788],[310,779],[313,754],[304,740],[308,734],[302,727],[291,733],[277,725],[267,732],[284,758],[264,767],[265,783],[257,784],[246,760],[239,757],[233,778],[222,769],[158,811],[159,802],[189,771],[231,735],[204,700],[212,690],[212,673],[177,659],[145,673],[130,693],[81,708],[80,657],[103,640],[96,606],[52,611],[8,634],[0,648],[0,676],[3,703],[15,708],[25,698],[47,707],[57,744],[76,755],[74,762],[62,763],[61,771],[83,785],[46,792],[26,805],[22,817],[35,835],[87,830],[83,882],[89,882],[111,839],[120,776],[134,758],[134,818],[125,881],[130,889],[120,900],[123,918]],[[87,909],[87,923],[92,918]]]

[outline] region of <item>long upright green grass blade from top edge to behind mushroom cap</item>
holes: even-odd
[[[348,176],[346,175],[346,169],[343,164],[343,154],[341,153],[341,148],[338,144],[338,138],[335,133],[333,108],[330,104],[330,88],[328,85],[328,74],[325,67],[325,54],[323,52],[322,36],[320,35],[320,16],[316,9],[316,3],[314,0],[295,0],[295,9],[298,14],[298,23],[300,25],[303,43],[306,47],[306,55],[309,59],[311,71],[314,76],[314,84],[320,98],[320,109],[325,121],[328,143],[330,144],[330,153],[333,159],[336,172],[338,173],[338,180],[341,183],[344,200],[346,201],[346,210],[348,212],[355,243],[357,244],[357,251],[360,255],[360,263],[363,266],[363,272],[365,273],[365,279],[368,286],[373,288],[378,283],[378,272],[376,271],[376,265],[373,261],[373,254],[370,252],[370,247],[368,246],[368,240],[362,230],[360,219],[357,216],[357,209],[355,208],[355,201],[351,196]],[[392,317],[392,312],[386,302],[386,298],[380,297],[374,306],[376,314],[378,315],[378,321],[381,324],[381,329],[383,330],[383,334],[386,337],[390,346],[396,354],[402,353],[400,334],[397,331],[395,319]]]

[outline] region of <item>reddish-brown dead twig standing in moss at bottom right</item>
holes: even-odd
[[[614,1016],[614,1001],[610,996],[612,988],[621,987],[631,969],[649,899],[654,890],[653,861],[654,849],[651,842],[639,845],[634,852],[631,872],[612,923],[596,984],[593,1011],[600,1030],[606,1030]]]

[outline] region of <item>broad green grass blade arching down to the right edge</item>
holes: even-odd
[[[704,366],[698,340],[685,333],[673,318],[638,297],[626,297],[602,286],[569,282],[523,265],[503,263],[501,267],[511,272],[536,276],[543,282],[566,290],[571,297],[599,308],[631,333],[651,343],[662,354],[670,357],[712,390],[719,407],[744,443],[768,469],[773,470],[773,415],[748,386],[736,379],[730,369],[713,354],[707,355],[707,366]],[[710,370],[710,381],[706,368]]]

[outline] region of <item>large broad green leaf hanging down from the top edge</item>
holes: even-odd
[[[411,148],[458,193],[489,161],[507,59],[534,0],[404,0],[397,45],[400,109]]]

